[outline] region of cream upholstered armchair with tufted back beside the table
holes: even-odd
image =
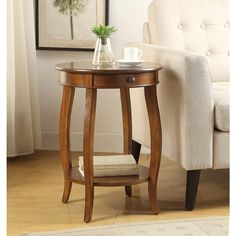
[[[157,88],[162,155],[187,171],[187,210],[201,170],[229,168],[227,0],[154,0],[144,24],[143,59],[163,65]],[[131,91],[133,148],[150,147],[143,91]],[[146,124],[146,125],[140,125]]]

